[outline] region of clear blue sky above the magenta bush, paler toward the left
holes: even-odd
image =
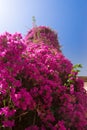
[[[80,75],[87,75],[87,0],[0,0],[0,33],[21,32],[37,25],[58,32],[63,54],[81,63]]]

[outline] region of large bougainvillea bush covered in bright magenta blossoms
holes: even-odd
[[[0,130],[87,130],[87,93],[57,34],[0,35]]]

